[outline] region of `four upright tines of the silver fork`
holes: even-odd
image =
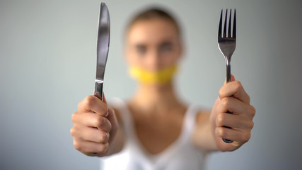
[[[228,19],[228,9],[226,9],[226,17],[224,20],[224,27],[223,27],[223,36],[221,37],[221,26],[222,26],[222,12],[221,9],[221,15],[220,15],[220,21],[219,21],[219,30],[218,30],[218,38],[236,38],[236,9],[234,9],[234,18],[233,18],[233,34],[231,35],[231,23],[232,23],[232,9],[230,9],[230,17]],[[226,35],[226,24],[228,23],[228,35]]]

